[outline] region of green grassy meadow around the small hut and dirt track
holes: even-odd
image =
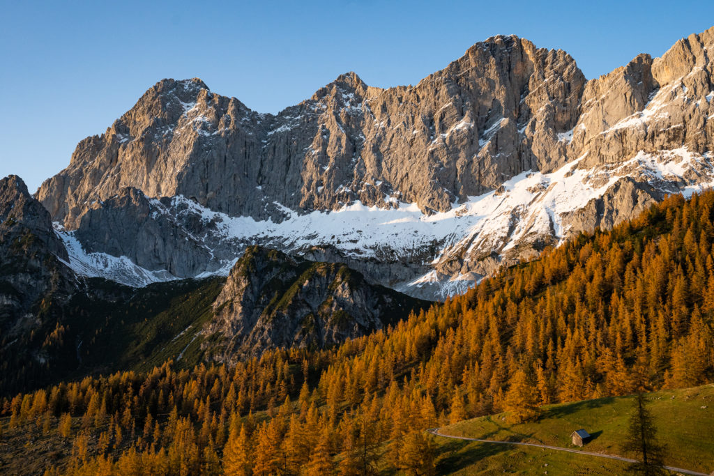
[[[582,450],[623,455],[623,442],[632,410],[633,397],[608,397],[582,402],[548,405],[540,419],[511,425],[508,414],[474,418],[443,427],[441,432],[486,440],[540,443],[578,449],[570,443],[570,433],[585,428],[593,440]],[[714,470],[714,385],[683,390],[662,390],[647,395],[649,408],[657,422],[660,441],[668,447],[667,465],[699,472]],[[626,463],[587,455],[508,447],[478,442],[458,442],[436,437],[443,473],[473,474],[486,470],[549,475],[621,474]],[[633,457],[633,456],[630,456]],[[543,464],[548,463],[548,467]],[[618,470],[618,468],[620,468]],[[540,472],[540,471],[539,471]]]

